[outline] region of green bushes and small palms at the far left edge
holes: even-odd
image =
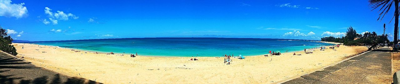
[[[13,45],[10,45],[11,42],[11,36],[7,36],[6,30],[3,29],[0,25],[0,50],[16,56],[18,54],[17,50]]]

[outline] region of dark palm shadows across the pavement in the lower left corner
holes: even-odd
[[[30,70],[32,68],[40,68],[40,67],[36,67],[30,64],[30,62],[25,62],[24,60],[15,57],[0,56],[0,84],[102,84],[99,82],[94,82],[92,80],[86,80],[85,78],[80,78],[80,77],[66,76],[67,78],[65,78],[63,76],[64,78],[61,78],[60,74],[54,74],[53,76],[40,76],[34,79],[32,78],[33,79],[32,80],[27,76],[18,77],[21,74],[17,76],[16,74],[18,73],[9,72],[13,70],[15,72],[16,69]],[[4,75],[4,73],[7,72],[8,74],[12,75]]]

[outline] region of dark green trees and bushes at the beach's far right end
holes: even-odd
[[[333,36],[321,38],[321,41],[325,42],[338,42],[343,43],[346,46],[371,46],[368,50],[378,46],[378,44],[386,44],[389,41],[388,34],[377,35],[376,32],[366,32],[364,34],[357,34],[353,27],[349,27],[346,32],[346,36],[342,38],[335,38]]]

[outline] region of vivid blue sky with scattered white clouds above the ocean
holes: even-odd
[[[320,40],[358,33],[393,34],[359,0],[0,0],[0,25],[16,40],[146,37]],[[392,40],[392,36],[391,40]]]

